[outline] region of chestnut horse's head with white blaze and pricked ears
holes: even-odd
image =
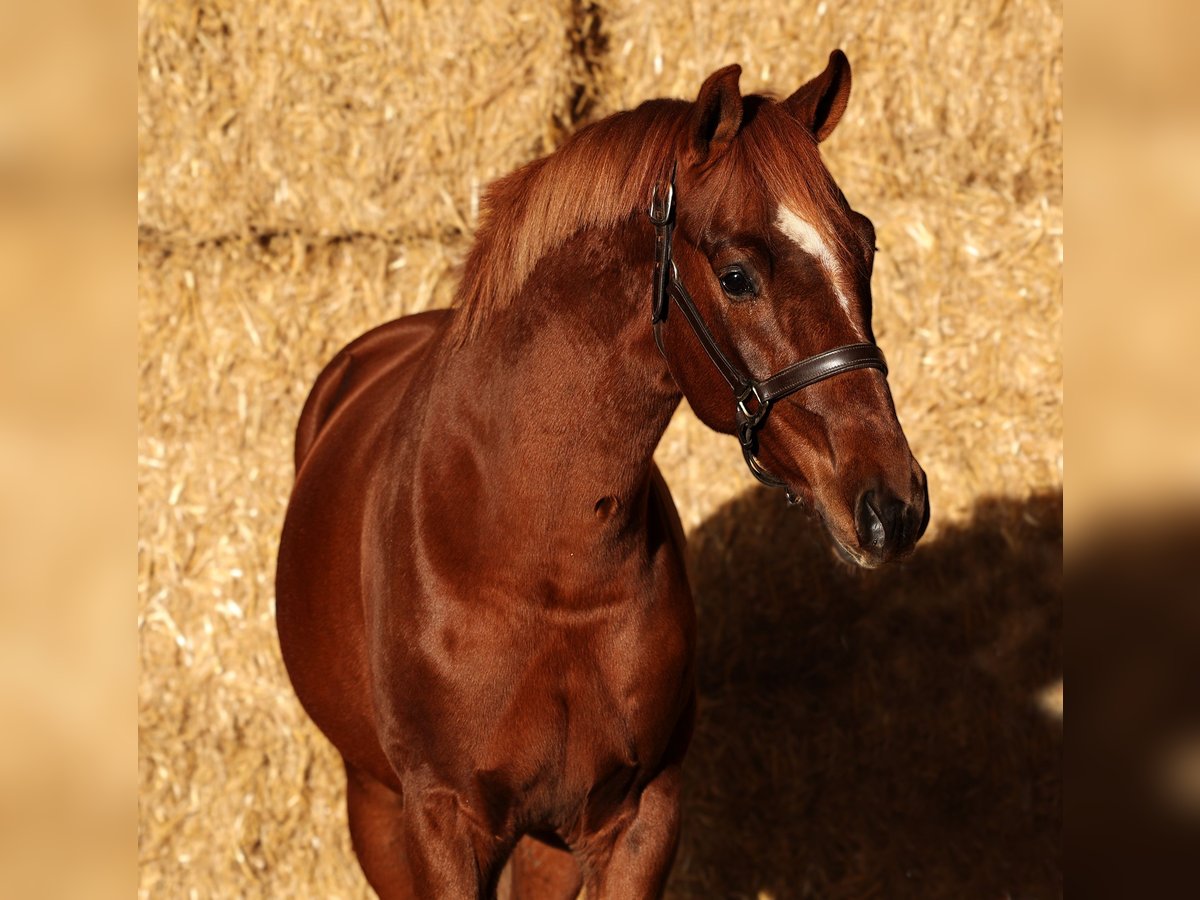
[[[835,50],[824,72],[781,101],[743,96],[739,76],[739,66],[714,72],[677,138],[667,262],[748,383],[775,380],[772,373],[834,348],[866,352],[860,367],[845,365],[769,403],[744,445],[760,478],[786,486],[844,556],[874,568],[916,545],[929,496],[874,348],[875,228],[850,206],[818,149],[846,110],[850,64]],[[676,383],[709,427],[745,434],[758,397],[740,410],[730,403],[734,379],[714,365],[704,325],[688,324],[679,314],[661,323]]]

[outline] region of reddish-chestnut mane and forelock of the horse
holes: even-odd
[[[845,217],[840,192],[820,161],[816,142],[782,107],[763,95],[743,98],[739,138],[709,173],[715,204],[756,182],[766,196],[806,211],[835,246],[830,220]],[[467,256],[452,320],[456,341],[476,335],[488,314],[514,302],[538,262],[572,234],[614,226],[649,204],[652,186],[670,176],[692,104],[652,100],[587,126],[557,151],[505,175],[486,190],[481,224]],[[745,181],[743,181],[745,184]],[[688,198],[695,203],[697,198]],[[689,209],[702,220],[713,209]]]

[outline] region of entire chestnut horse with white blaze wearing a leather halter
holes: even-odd
[[[695,611],[653,455],[682,397],[852,560],[924,530],[874,229],[817,150],[850,66],[784,101],[739,73],[500,179],[456,308],[358,338],[308,397],[280,642],[383,898],[493,895],[510,858],[518,898],[662,893]]]

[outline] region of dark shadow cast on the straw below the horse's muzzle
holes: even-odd
[[[934,498],[936,503],[936,498]],[[882,571],[756,490],[691,536],[673,896],[1062,894],[1062,493]]]

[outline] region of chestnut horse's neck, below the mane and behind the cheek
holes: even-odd
[[[650,329],[653,247],[644,216],[576,234],[448,359],[472,385],[460,396],[473,407],[472,463],[488,492],[520,500],[522,526],[644,512],[680,400]]]

